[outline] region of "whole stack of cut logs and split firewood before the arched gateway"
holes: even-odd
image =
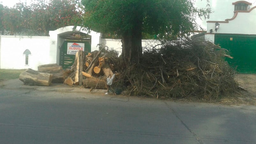
[[[49,86],[51,83],[64,83],[70,86],[107,89],[106,78],[113,76],[113,64],[108,62],[105,55],[102,56],[101,51],[102,49],[96,50],[87,55],[78,51],[71,69],[63,70],[57,64],[40,65],[38,71],[27,69],[20,74],[19,79],[29,85]]]

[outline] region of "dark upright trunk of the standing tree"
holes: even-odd
[[[135,27],[131,33],[125,33],[122,35],[122,56],[126,68],[135,63],[139,64],[139,60],[142,56],[141,39],[141,26]]]

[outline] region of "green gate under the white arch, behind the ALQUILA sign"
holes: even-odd
[[[75,61],[75,54],[68,53],[68,43],[84,43],[84,52],[91,52],[91,45],[88,41],[64,41],[60,48],[60,65],[63,69],[70,68]]]

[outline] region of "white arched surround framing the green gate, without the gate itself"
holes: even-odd
[[[65,26],[62,28],[59,28],[55,31],[49,31],[50,35],[50,60],[49,63],[57,63],[60,65],[60,58],[61,58],[61,50],[62,47],[64,47],[63,44],[68,43],[82,43],[82,41],[87,41],[91,45],[90,51],[99,50],[98,44],[101,43],[101,33],[94,32],[94,31],[86,31],[81,30],[80,26],[77,26],[76,29],[74,29],[74,26]],[[70,36],[74,35],[75,38],[72,38]],[[87,38],[89,39],[79,39],[77,36],[85,36],[88,35]],[[86,36],[85,36],[86,37]],[[80,37],[81,38],[81,37]],[[80,40],[80,41],[79,41]],[[65,42],[66,41],[66,42]],[[86,42],[84,42],[85,44]]]

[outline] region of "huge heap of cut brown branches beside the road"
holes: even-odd
[[[235,70],[224,57],[232,58],[228,50],[208,41],[165,42],[160,49],[145,48],[140,63],[123,69],[112,89],[136,96],[216,100],[237,88]]]

